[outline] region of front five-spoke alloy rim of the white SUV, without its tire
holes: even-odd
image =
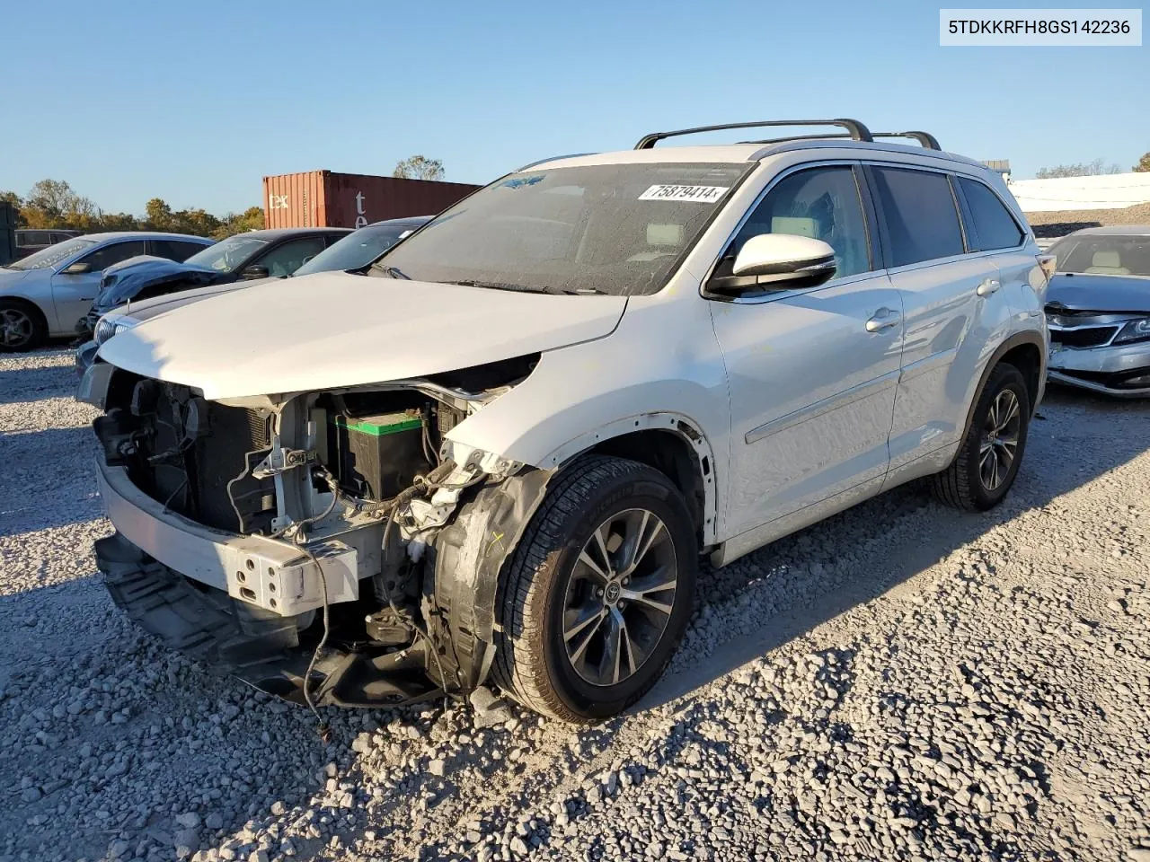
[[[567,659],[591,685],[631,677],[662,638],[678,565],[666,524],[647,509],[604,521],[572,568],[564,600]]]

